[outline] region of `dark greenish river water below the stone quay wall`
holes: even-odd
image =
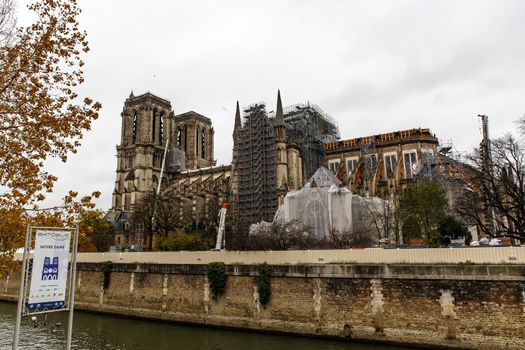
[[[12,347],[16,305],[0,302],[0,349]],[[43,316],[39,316],[43,321]],[[52,329],[61,323],[57,329]],[[67,313],[48,314],[47,325],[22,319],[20,349],[63,350]],[[404,348],[257,334],[75,312],[73,349],[82,350],[403,350]]]

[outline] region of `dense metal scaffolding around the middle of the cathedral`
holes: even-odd
[[[278,142],[297,146],[302,174],[308,179],[324,162],[324,142],[339,138],[337,123],[319,107],[306,103],[285,111],[278,93],[277,113],[268,115],[264,102],[254,103],[244,108],[241,123],[237,105],[232,194],[236,226],[243,232],[253,223],[272,221],[277,211],[281,190],[277,188]],[[276,128],[286,131],[281,134]]]

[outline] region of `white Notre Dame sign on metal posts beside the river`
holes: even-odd
[[[72,244],[71,238],[73,238]],[[33,241],[34,253],[30,267],[29,252]],[[78,227],[27,226],[13,350],[18,350],[22,316],[67,310],[69,310],[67,349],[71,349],[77,245]]]

